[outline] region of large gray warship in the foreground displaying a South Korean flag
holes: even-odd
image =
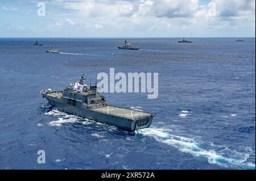
[[[97,86],[88,87],[82,73],[75,85],[68,85],[64,91],[48,89],[40,93],[48,100],[48,104],[60,111],[114,125],[127,131],[150,127],[153,113],[109,106],[105,96],[101,95],[98,89]]]

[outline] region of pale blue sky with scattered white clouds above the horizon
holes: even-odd
[[[0,37],[255,37],[255,0],[1,0]]]

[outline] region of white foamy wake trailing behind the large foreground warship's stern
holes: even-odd
[[[140,129],[136,131],[136,133],[154,137],[156,141],[174,146],[180,151],[190,153],[196,157],[205,157],[208,161],[213,160],[213,162],[209,163],[216,163],[224,167],[231,166],[238,167],[240,169],[255,169],[255,163],[246,162],[250,154],[230,150],[226,146],[221,146],[224,147],[224,149],[220,151],[216,150],[220,147],[216,145],[208,145],[207,147],[210,149],[204,149],[203,146],[193,138],[176,136],[171,134],[170,131],[160,128]]]

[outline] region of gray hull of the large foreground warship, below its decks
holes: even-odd
[[[114,125],[115,127],[125,129],[126,131],[136,131],[138,129],[148,128],[150,127],[153,119],[153,115],[147,117],[147,121],[144,119],[141,120],[133,120],[127,119],[126,117],[119,117],[115,115],[109,115],[107,113],[97,112],[86,109],[82,103],[81,105],[71,106],[69,104],[64,103],[63,98],[55,98],[53,96],[49,96],[47,94],[43,94],[43,98],[48,100],[48,103],[53,107],[58,108],[60,111],[64,111],[67,113],[71,113],[73,115],[77,115],[80,117],[84,117],[86,119],[94,120],[100,123],[105,123],[109,125]]]

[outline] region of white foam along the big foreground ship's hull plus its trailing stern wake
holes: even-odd
[[[56,127],[60,127],[64,124],[105,125],[54,109],[51,110],[47,108],[47,112],[45,112],[45,114],[52,117],[57,117],[57,120],[50,121],[48,123],[49,125]],[[112,127],[106,127],[106,130],[109,131],[109,129]],[[115,127],[113,128],[114,132],[117,132],[117,129]],[[139,129],[138,131],[135,131],[135,134],[153,137],[158,142],[173,146],[174,148],[177,148],[185,153],[192,154],[195,157],[205,158],[205,161],[208,160],[209,163],[217,164],[225,168],[233,167],[234,169],[255,169],[255,163],[247,162],[250,155],[255,154],[251,149],[246,149],[243,153],[241,153],[241,151],[229,149],[228,146],[214,145],[213,143],[203,142],[198,138],[180,136],[171,129],[164,128],[151,127]]]

